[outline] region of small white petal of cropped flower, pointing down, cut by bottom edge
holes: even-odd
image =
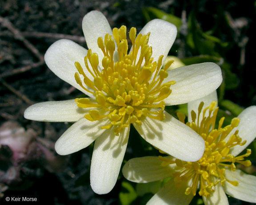
[[[217,184],[215,187],[215,192],[212,193],[210,197],[203,196],[205,205],[229,205],[228,197],[226,196],[223,187]]]

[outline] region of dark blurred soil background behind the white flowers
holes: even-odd
[[[119,193],[124,180],[121,175],[109,194],[92,192],[89,184],[92,145],[72,155],[58,156],[54,142],[69,124],[26,120],[23,113],[36,102],[68,100],[81,94],[47,68],[44,53],[57,39],[63,38],[86,47],[81,27],[86,13],[98,10],[112,28],[126,25],[140,31],[148,20],[155,18],[148,15],[149,7],[179,17],[188,28],[192,26],[189,19],[194,18],[200,31],[211,31],[209,35],[228,43],[224,46],[214,41],[211,53],[192,48],[188,43],[189,29],[181,27],[170,51],[170,55],[184,58],[186,64],[195,56],[207,55],[213,62],[212,56],[221,58],[224,85],[218,93],[220,108],[225,113],[237,113],[230,108],[232,103],[241,109],[256,104],[255,1],[0,0],[0,132],[22,133],[31,139],[18,158],[14,158],[17,153],[12,146],[0,148],[1,205],[11,204],[5,198],[13,196],[36,197],[37,202],[31,204],[121,204]],[[128,147],[125,159],[133,156]],[[250,172],[255,173],[255,168]],[[143,200],[141,204],[145,204]],[[249,203],[230,199],[230,204]]]

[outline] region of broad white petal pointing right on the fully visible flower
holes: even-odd
[[[184,104],[216,90],[222,82],[222,75],[220,66],[206,62],[170,70],[163,83],[168,81],[176,81],[176,84],[171,85],[172,93],[164,100],[165,104]]]

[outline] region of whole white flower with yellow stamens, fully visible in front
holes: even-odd
[[[176,27],[164,20],[150,21],[137,37],[136,29],[131,28],[130,54],[125,26],[112,31],[97,11],[85,15],[82,26],[89,50],[70,40],[59,40],[47,50],[45,62],[89,98],[34,104],[25,110],[24,117],[76,122],[56,142],[60,155],[95,141],[90,180],[99,194],[108,193],[116,183],[130,124],[148,143],[168,154],[187,161],[200,159],[204,141],[164,107],[211,93],[222,81],[220,67],[201,63],[167,72],[169,61],[161,69],[177,33]]]

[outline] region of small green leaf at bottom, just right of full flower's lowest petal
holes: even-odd
[[[137,198],[137,193],[128,182],[122,182],[122,191],[119,193],[121,205],[129,205]]]

